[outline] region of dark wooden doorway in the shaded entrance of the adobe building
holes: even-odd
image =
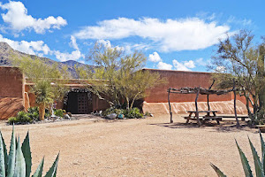
[[[77,114],[87,114],[93,111],[91,93],[75,92],[68,93],[66,111]]]

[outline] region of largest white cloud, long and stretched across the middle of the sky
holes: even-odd
[[[206,22],[199,18],[187,19],[109,19],[97,26],[83,27],[74,34],[79,39],[123,39],[140,36],[159,47],[159,50],[199,50],[216,44],[226,37],[230,27]]]

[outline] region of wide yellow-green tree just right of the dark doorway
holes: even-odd
[[[88,80],[87,87],[110,106],[118,107],[125,102],[126,108],[132,109],[136,99],[143,98],[145,90],[162,83],[158,73],[149,73],[141,69],[146,57],[139,51],[125,55],[119,48],[111,48],[95,43],[89,60],[95,63],[91,68],[76,67],[79,78]]]

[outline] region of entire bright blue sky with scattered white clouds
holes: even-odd
[[[130,53],[148,68],[207,71],[218,39],[239,29],[258,41],[265,2],[178,0],[2,1],[0,41],[57,61],[87,62],[95,42]]]

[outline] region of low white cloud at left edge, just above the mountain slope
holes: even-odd
[[[47,44],[44,44],[42,41],[12,41],[11,39],[4,38],[3,35],[0,35],[0,42],[8,43],[12,49],[19,50],[31,55],[43,56],[43,54],[49,54],[50,50]]]

